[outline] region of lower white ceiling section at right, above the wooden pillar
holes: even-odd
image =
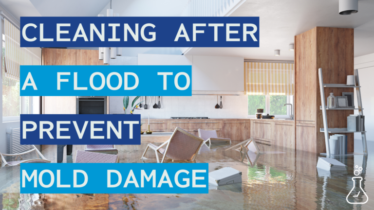
[[[339,0],[246,0],[230,17],[260,17],[260,48],[192,48],[187,55],[294,60],[288,45],[316,26],[355,28],[355,57],[374,53],[374,0],[359,0],[358,13],[338,14]],[[281,56],[274,56],[274,50]]]

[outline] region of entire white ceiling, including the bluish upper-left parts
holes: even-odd
[[[179,16],[188,0],[112,0],[120,16]],[[0,0],[20,16],[86,16],[106,14],[110,0]],[[374,0],[359,0],[358,13],[338,14],[339,0],[246,0],[231,17],[260,17],[260,48],[192,48],[189,55],[241,56],[258,60],[294,60],[288,45],[294,36],[316,26],[355,28],[355,57],[374,53]],[[274,50],[281,56],[274,56]]]

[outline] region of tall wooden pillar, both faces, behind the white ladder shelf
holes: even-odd
[[[323,82],[345,84],[347,75],[354,74],[354,29],[316,27],[295,36],[295,119],[296,148],[315,153],[326,152],[325,138],[319,128],[323,127],[319,108],[318,69],[322,68]],[[333,92],[353,92],[353,88],[325,88],[325,97]],[[353,110],[327,110],[330,128],[347,127],[347,116]],[[315,126],[315,132],[299,123]],[[304,134],[308,133],[308,137]],[[353,152],[353,134],[348,134],[348,151]],[[299,145],[298,145],[299,144]]]

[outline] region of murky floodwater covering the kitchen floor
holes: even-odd
[[[146,145],[117,146],[120,162],[142,162],[140,157]],[[373,141],[368,141],[368,156],[337,159],[348,166],[348,171],[333,174],[317,170],[317,154],[258,145],[265,154],[225,151],[229,144],[212,144],[210,148],[203,145],[196,162],[209,163],[209,172],[227,166],[237,169],[242,172],[243,181],[242,184],[219,189],[211,187],[208,194],[20,194],[19,166],[1,167],[0,209],[374,209],[374,153],[370,151]],[[77,149],[83,150],[83,146],[74,146],[73,154]],[[47,159],[56,162],[56,146],[43,146],[41,152]],[[355,140],[355,152],[362,153],[361,141]],[[155,159],[154,153],[148,154],[150,159]],[[71,162],[74,158],[74,155],[64,157],[64,162]],[[363,169],[359,176],[363,178],[361,187],[369,197],[366,204],[349,204],[346,201],[353,188],[355,165]]]

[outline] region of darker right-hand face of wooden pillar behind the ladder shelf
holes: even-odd
[[[346,84],[347,75],[354,74],[354,29],[317,27],[317,37],[317,69],[322,68],[323,83]],[[317,151],[326,152],[324,134],[319,132],[319,128],[323,127],[319,80],[317,86]],[[325,88],[325,97],[327,99],[330,92],[341,96],[342,92],[353,91],[354,88]],[[347,127],[347,116],[354,111],[327,110],[326,113],[330,128],[344,128]],[[348,142],[348,152],[354,152],[353,134],[348,134]]]

